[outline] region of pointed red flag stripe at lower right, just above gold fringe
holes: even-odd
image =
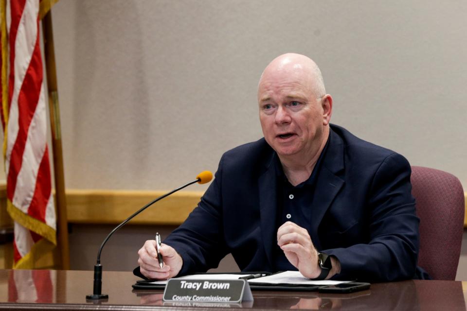
[[[52,191],[50,177],[49,151],[46,146],[44,155],[40,161],[39,171],[37,172],[33,200],[28,209],[28,215],[43,223],[45,223],[45,211],[50,198],[50,192]]]

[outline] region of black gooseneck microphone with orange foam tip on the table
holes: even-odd
[[[108,294],[102,294],[102,265],[101,265],[101,252],[102,252],[102,248],[104,247],[104,245],[107,243],[108,239],[112,236],[112,234],[115,233],[115,231],[117,231],[118,229],[120,229],[121,227],[123,227],[127,222],[129,222],[131,219],[133,219],[133,217],[135,217],[136,215],[138,215],[139,213],[141,213],[142,211],[144,211],[144,209],[150,207],[151,205],[153,205],[154,203],[156,203],[157,201],[159,200],[162,200],[163,198],[165,198],[166,196],[169,196],[171,195],[172,193],[174,192],[177,192],[178,190],[181,190],[185,187],[188,187],[194,183],[198,183],[198,184],[205,184],[205,183],[208,183],[211,181],[211,179],[213,179],[213,173],[209,172],[209,171],[204,171],[204,172],[201,172],[198,174],[198,176],[196,176],[196,179],[193,180],[193,181],[190,181],[189,183],[175,189],[175,190],[172,190],[170,192],[167,192],[165,193],[164,195],[161,195],[160,197],[158,197],[157,199],[149,202],[148,204],[146,204],[144,207],[142,207],[140,210],[138,210],[137,212],[135,212],[133,215],[131,215],[130,217],[128,217],[126,220],[124,220],[120,225],[117,225],[107,236],[107,238],[104,240],[104,242],[102,242],[101,244],[101,247],[99,247],[99,251],[97,253],[97,263],[94,265],[94,286],[93,286],[93,290],[92,290],[92,294],[91,295],[86,295],[86,299],[92,299],[92,300],[96,300],[96,299],[108,299]]]

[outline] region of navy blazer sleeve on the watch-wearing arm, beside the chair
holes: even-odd
[[[393,281],[413,278],[419,250],[419,219],[409,162],[398,154],[384,159],[368,192],[369,242],[322,250],[341,263],[334,279]]]

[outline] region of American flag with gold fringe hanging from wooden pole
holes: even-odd
[[[42,7],[50,9],[51,3],[1,2],[1,123],[7,209],[15,222],[14,268],[51,267],[56,220],[39,45]]]

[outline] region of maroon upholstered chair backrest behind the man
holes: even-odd
[[[412,194],[420,218],[418,265],[433,279],[454,280],[464,232],[464,190],[456,176],[412,167]]]

